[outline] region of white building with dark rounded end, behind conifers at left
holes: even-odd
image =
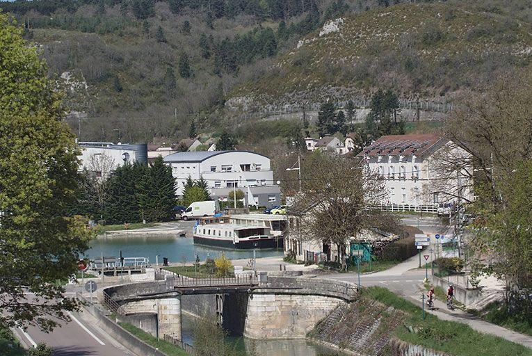
[[[147,163],[145,144],[129,145],[99,142],[79,143],[79,170],[87,170],[96,177],[106,177],[120,165],[136,161]]]

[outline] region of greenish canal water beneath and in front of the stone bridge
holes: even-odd
[[[183,341],[194,344],[193,325],[195,318],[182,314]],[[251,340],[245,337],[227,337],[227,342],[234,343],[242,356],[246,350],[255,348],[257,356],[346,356],[336,350],[325,348],[307,340]]]

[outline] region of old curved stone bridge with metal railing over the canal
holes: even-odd
[[[304,338],[334,309],[356,300],[358,289],[348,282],[308,277],[192,280],[167,276],[163,281],[111,286],[103,296],[104,304],[119,316],[153,318],[156,314],[159,337],[168,334],[181,339],[183,307],[198,316],[216,314],[218,323],[234,335],[293,339]]]

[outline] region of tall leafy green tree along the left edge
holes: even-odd
[[[79,177],[61,97],[12,21],[0,13],[0,324],[51,330],[77,306],[54,282],[76,271],[90,234],[66,217]]]

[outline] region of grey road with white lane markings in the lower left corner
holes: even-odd
[[[68,313],[72,321],[61,321],[61,327],[46,333],[29,326],[24,332],[17,328],[17,338],[26,346],[44,342],[53,348],[54,356],[124,356],[134,355],[100,329],[87,312]]]

